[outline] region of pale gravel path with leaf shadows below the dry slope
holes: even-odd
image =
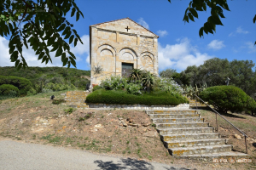
[[[188,169],[175,165],[137,161],[92,154],[42,144],[26,144],[12,140],[0,140],[0,169],[84,169],[84,170],[175,170]]]

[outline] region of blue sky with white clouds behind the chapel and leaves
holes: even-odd
[[[189,65],[202,65],[205,60],[218,57],[228,60],[253,60],[256,64],[256,0],[228,0],[230,11],[224,10],[224,26],[216,26],[216,32],[199,37],[201,26],[210,16],[207,12],[198,12],[195,22],[183,22],[189,0],[75,0],[84,14],[75,21],[67,14],[67,20],[74,25],[84,44],[72,45],[77,57],[77,68],[90,70],[89,26],[111,20],[129,17],[141,26],[159,36],[159,71],[175,69],[183,71]],[[23,54],[29,66],[62,66],[61,59],[51,53],[53,63],[41,64],[32,49],[23,48]],[[13,66],[9,60],[9,37],[0,37],[0,66]]]

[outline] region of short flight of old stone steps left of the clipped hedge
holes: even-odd
[[[89,106],[85,103],[88,94],[88,92],[84,91],[68,91],[65,97],[65,105],[77,108],[88,108]]]

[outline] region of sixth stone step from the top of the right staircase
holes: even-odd
[[[163,141],[193,140],[193,139],[218,139],[218,133],[184,133],[161,135]]]

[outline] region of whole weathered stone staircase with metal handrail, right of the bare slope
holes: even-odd
[[[213,127],[195,110],[146,111],[156,125],[161,139],[172,156],[246,157],[232,151],[232,145],[220,139]]]

